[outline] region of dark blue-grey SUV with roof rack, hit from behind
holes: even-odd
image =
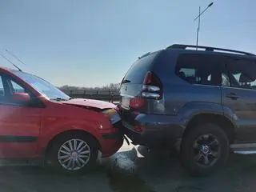
[[[218,170],[230,150],[256,153],[254,54],[175,44],[138,58],[120,91],[124,133],[177,146],[190,175]]]

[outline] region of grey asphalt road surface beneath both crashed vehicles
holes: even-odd
[[[138,152],[140,151],[140,153]],[[100,159],[94,172],[66,177],[40,167],[0,168],[0,191],[255,191],[256,156],[231,154],[226,168],[205,178],[190,178],[165,149],[127,146]]]

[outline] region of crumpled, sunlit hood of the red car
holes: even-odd
[[[98,101],[98,100],[88,99],[88,98],[74,98],[62,103],[74,105],[74,106],[85,106],[85,107],[87,106],[88,108],[92,107],[92,108],[97,108],[99,110],[116,108],[116,106],[113,103],[103,102],[103,101]]]

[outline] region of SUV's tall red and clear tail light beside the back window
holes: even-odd
[[[162,98],[162,82],[151,71],[146,73],[142,86],[143,98]]]

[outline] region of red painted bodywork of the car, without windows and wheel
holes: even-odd
[[[0,73],[10,75],[21,83],[45,106],[37,108],[0,104],[0,158],[42,158],[49,142],[67,130],[83,130],[91,134],[98,141],[103,157],[114,154],[122,146],[122,138],[102,138],[102,134],[118,132],[106,114],[79,107],[89,106],[103,110],[115,108],[114,104],[91,99],[50,101],[11,70],[0,68]],[[36,141],[6,142],[2,139],[9,136],[28,136]]]

